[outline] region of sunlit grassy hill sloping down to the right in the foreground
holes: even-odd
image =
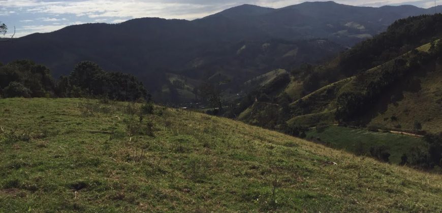
[[[442,211],[440,175],[190,111],[140,119],[140,108],[0,99],[0,212]]]

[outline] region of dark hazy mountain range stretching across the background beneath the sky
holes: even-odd
[[[193,21],[140,18],[35,33],[2,44],[7,51],[0,52],[0,60],[30,59],[47,65],[55,77],[90,60],[105,70],[137,76],[156,97],[185,102],[195,99],[192,90],[213,75],[223,76],[231,82],[224,86],[240,93],[244,88],[237,85],[256,76],[318,63],[386,30],[394,20],[425,13],[430,11],[412,6],[334,2],[280,9],[243,5]],[[192,82],[186,87],[191,91],[175,87],[170,76]]]

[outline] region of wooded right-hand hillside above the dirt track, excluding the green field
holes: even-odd
[[[333,123],[339,95],[351,92],[371,96],[370,100],[353,100],[360,102],[360,111],[363,109],[359,116],[367,114],[359,118],[349,114],[350,117],[341,119],[394,128],[393,123],[396,121],[389,123],[388,119],[382,121],[387,115],[380,117],[383,114],[388,114],[389,117],[408,115],[402,125],[397,122],[395,125],[411,131],[414,121],[419,120],[425,126],[423,129],[436,133],[442,123],[441,118],[432,116],[440,109],[437,84],[440,82],[441,55],[438,52],[440,40],[437,38],[442,37],[441,28],[440,14],[402,19],[392,24],[386,32],[342,52],[329,62],[292,70],[291,81],[282,85],[282,88],[268,90],[263,85],[258,88],[261,93],[275,97],[274,103],[289,96],[292,100],[292,118],[286,120],[291,119],[289,123]],[[420,101],[416,101],[417,99]],[[425,105],[426,110],[420,109],[418,105],[411,105],[413,102]],[[254,105],[252,108],[263,104],[265,105],[250,103]],[[391,107],[392,104],[394,107]],[[246,116],[255,110],[248,109],[242,113],[240,119],[269,124],[268,119]],[[411,113],[413,110],[417,113]]]

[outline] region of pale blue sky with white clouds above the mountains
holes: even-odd
[[[320,0],[319,0],[320,1]],[[0,22],[6,23],[10,37],[34,32],[50,32],[82,23],[120,23],[133,18],[161,17],[193,20],[222,10],[252,4],[281,8],[305,0],[0,0]],[[340,4],[380,7],[384,5],[434,6],[422,0],[337,0]],[[442,0],[436,1],[442,5]]]

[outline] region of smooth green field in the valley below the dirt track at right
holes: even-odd
[[[391,154],[390,162],[396,164],[401,162],[403,154],[410,156],[412,148],[425,149],[426,146],[422,138],[340,126],[329,126],[320,131],[312,129],[306,134],[307,138],[315,138],[317,141],[319,138],[320,143],[352,153],[369,152],[371,147],[386,146]]]

